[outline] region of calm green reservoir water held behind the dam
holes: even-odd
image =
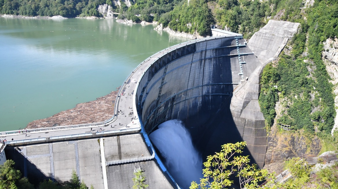
[[[0,17],[0,131],[105,96],[150,55],[189,40],[154,27]]]

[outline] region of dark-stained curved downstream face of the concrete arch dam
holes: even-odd
[[[171,49],[144,71],[136,89],[137,111],[145,131],[150,134],[159,124],[179,119],[203,157],[220,151],[222,144],[244,140],[248,146],[265,147],[259,152],[252,151],[257,148],[247,149],[254,162],[263,167],[265,129],[246,129],[245,135],[250,137],[243,135],[245,127],[263,128],[264,119],[256,121],[253,117],[253,122],[245,123],[246,119],[237,119],[241,116],[238,111],[233,115],[230,109],[234,88],[249,83],[250,75],[262,65],[243,38],[208,38]],[[256,90],[258,98],[259,87]],[[236,101],[241,108],[247,105],[245,98]]]

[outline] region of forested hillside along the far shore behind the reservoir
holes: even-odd
[[[127,7],[112,0],[0,0],[0,13],[29,16],[102,16],[98,5],[109,4],[119,18],[133,22],[159,21],[164,27],[174,31],[211,35],[210,25],[219,29],[227,28],[233,32],[252,36],[267,22],[269,16],[284,11],[281,20],[294,21],[302,0],[132,0]],[[295,8],[297,7],[297,8]]]

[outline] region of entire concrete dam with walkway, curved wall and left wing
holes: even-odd
[[[246,153],[263,167],[267,144],[258,96],[265,63],[258,58],[234,33],[168,47],[127,77],[111,119],[29,129],[29,138],[19,131],[1,132],[2,139],[15,140],[6,142],[0,157],[15,160],[36,182],[65,182],[75,169],[87,185],[124,189],[141,170],[149,188],[178,188],[148,134],[179,119],[204,157],[222,144],[244,140]]]

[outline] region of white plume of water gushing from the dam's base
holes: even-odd
[[[188,189],[192,181],[202,178],[202,158],[192,144],[182,121],[173,119],[159,125],[150,135],[164,164],[180,187]]]

